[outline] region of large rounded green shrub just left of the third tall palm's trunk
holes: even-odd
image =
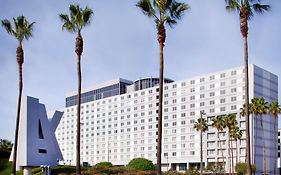
[[[128,164],[128,168],[140,171],[155,170],[155,166],[153,165],[152,161],[145,158],[132,159]]]

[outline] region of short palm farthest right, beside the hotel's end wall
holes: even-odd
[[[274,118],[274,164],[273,164],[273,174],[276,174],[276,161],[277,161],[277,153],[276,153],[276,149],[277,149],[277,141],[276,141],[276,137],[277,137],[277,131],[276,131],[276,125],[277,125],[277,121],[278,121],[278,115],[281,113],[281,108],[280,105],[278,103],[278,101],[274,101],[272,103],[270,103],[270,105],[268,106],[268,112],[270,113],[270,115]]]

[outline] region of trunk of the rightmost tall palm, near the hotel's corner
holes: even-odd
[[[240,30],[244,44],[244,66],[245,66],[245,117],[246,117],[246,163],[247,174],[251,175],[251,154],[250,154],[250,130],[249,130],[249,73],[248,73],[248,12],[245,7],[240,9]]]

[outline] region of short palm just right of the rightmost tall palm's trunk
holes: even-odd
[[[266,175],[266,150],[265,150],[265,141],[264,141],[264,127],[263,127],[263,118],[262,116],[267,114],[267,102],[264,98],[254,98],[252,100],[253,113],[256,116],[260,117],[260,127],[262,130],[262,148],[263,148],[263,174]]]

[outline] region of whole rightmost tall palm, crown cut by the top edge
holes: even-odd
[[[249,132],[249,77],[248,77],[248,21],[253,17],[253,12],[262,14],[270,9],[269,5],[260,3],[261,0],[225,0],[227,11],[238,11],[240,18],[240,31],[244,44],[245,66],[245,116],[246,116],[246,162],[247,174],[251,174],[250,159],[250,132]]]

